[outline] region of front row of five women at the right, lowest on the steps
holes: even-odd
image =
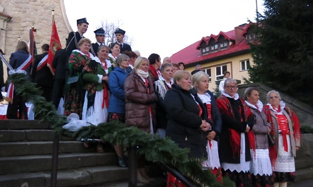
[[[164,98],[166,136],[189,148],[190,158],[204,160],[203,168],[211,169],[218,180],[223,175],[236,186],[280,187],[294,181],[300,126],[279,92],[269,91],[263,107],[258,89],[247,88],[243,100],[236,80],[227,78],[215,100],[207,90],[208,78],[202,71],[174,74]],[[170,174],[168,184],[184,186]]]

